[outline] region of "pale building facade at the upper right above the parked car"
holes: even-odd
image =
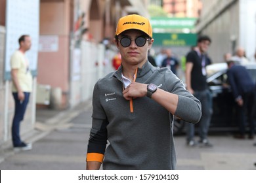
[[[213,62],[223,62],[226,52],[234,54],[238,46],[245,49],[247,58],[255,61],[256,1],[202,0],[203,10],[197,32],[212,39],[209,56]]]

